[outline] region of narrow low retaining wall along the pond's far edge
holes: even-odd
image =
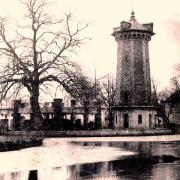
[[[170,129],[102,129],[102,130],[84,130],[84,131],[9,131],[9,136],[27,136],[32,137],[114,137],[114,136],[152,136],[152,135],[169,135],[172,134]]]

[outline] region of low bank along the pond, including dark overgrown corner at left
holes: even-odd
[[[171,135],[169,129],[149,130],[87,130],[87,131],[9,131],[0,136],[0,151],[19,150],[40,146],[44,137],[124,137],[124,136],[157,136]]]

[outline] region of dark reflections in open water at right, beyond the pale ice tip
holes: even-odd
[[[79,145],[84,143],[75,142]],[[96,146],[95,142],[86,142]],[[104,144],[101,143],[103,146]],[[107,145],[107,142],[105,143]],[[126,156],[123,159],[82,164],[81,178],[112,178],[125,179],[179,179],[180,177],[180,142],[109,142],[110,147],[136,151],[138,155]],[[71,176],[73,177],[73,175]]]

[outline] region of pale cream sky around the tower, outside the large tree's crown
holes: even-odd
[[[0,0],[0,16],[19,18],[23,9],[18,0]],[[92,38],[79,51],[76,59],[89,76],[116,72],[116,42],[113,27],[129,20],[131,10],[140,23],[154,23],[156,33],[150,42],[151,75],[159,87],[169,85],[173,65],[180,61],[180,2],[178,0],[54,0],[51,13],[56,17],[72,11],[78,20],[89,23]]]

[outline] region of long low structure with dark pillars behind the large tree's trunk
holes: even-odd
[[[106,108],[100,103],[78,106],[71,100],[70,107],[64,107],[62,99],[52,103],[40,104],[45,130],[84,130],[107,127]],[[13,108],[0,109],[1,130],[27,130],[32,127],[31,107],[29,103],[14,101]]]

